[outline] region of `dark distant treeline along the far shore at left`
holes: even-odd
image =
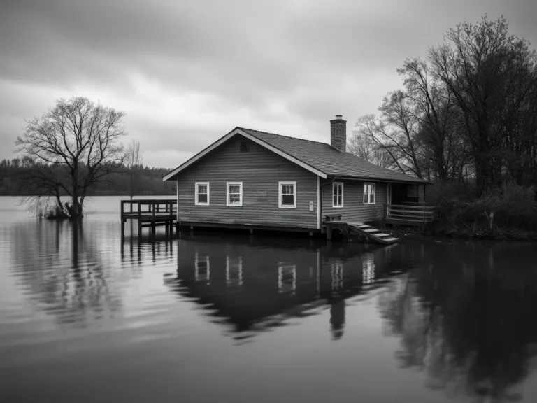
[[[47,170],[54,169],[54,167],[20,158],[2,160],[0,162],[0,195],[30,195],[31,188],[25,186],[23,179],[24,174],[30,169]],[[175,183],[162,181],[162,176],[169,171],[168,168],[139,167],[136,195],[174,195]],[[96,185],[92,185],[89,195],[129,195],[131,183],[129,168],[120,165],[115,172],[107,174],[103,179]]]

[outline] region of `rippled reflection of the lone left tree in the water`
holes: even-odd
[[[38,221],[32,227],[15,226],[11,269],[38,311],[61,325],[87,327],[122,310],[91,227],[83,221]]]

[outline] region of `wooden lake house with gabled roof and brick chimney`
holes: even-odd
[[[346,121],[336,115],[330,124],[330,144],[231,130],[164,176],[177,182],[178,226],[313,233],[334,215],[355,223],[403,219],[394,205],[408,203],[412,212],[410,203],[423,201],[427,181],[348,153]]]

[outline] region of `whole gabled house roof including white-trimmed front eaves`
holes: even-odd
[[[379,167],[371,162],[362,160],[354,154],[344,153],[327,143],[296,139],[295,137],[282,136],[280,134],[259,132],[258,130],[245,129],[243,127],[236,127],[226,136],[180,165],[180,167],[174,169],[169,174],[166,174],[163,180],[167,181],[174,178],[179,171],[185,169],[189,164],[192,164],[196,160],[199,160],[203,155],[209,153],[236,134],[241,134],[256,143],[259,143],[261,146],[282,155],[282,157],[287,158],[287,160],[299,164],[301,167],[308,169],[308,171],[312,171],[322,178],[333,176],[336,178],[363,178],[378,181],[428,183],[420,178]]]

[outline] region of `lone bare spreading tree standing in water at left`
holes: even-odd
[[[41,118],[27,120],[26,131],[17,137],[17,151],[48,169],[29,169],[30,204],[55,198],[60,215],[80,218],[90,186],[116,171],[124,154],[124,113],[95,104],[84,97],[59,99]],[[71,206],[62,205],[69,195]]]

